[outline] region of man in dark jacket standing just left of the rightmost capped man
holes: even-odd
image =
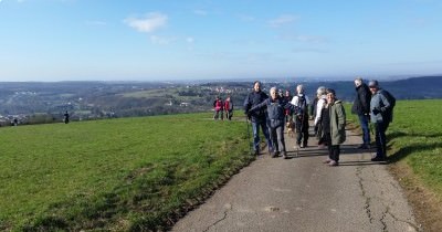
[[[364,83],[361,77],[355,78],[356,85],[356,97],[351,107],[351,113],[358,115],[360,127],[362,129],[362,144],[358,147],[359,149],[370,148],[370,130],[368,127],[370,118],[370,99],[371,92],[367,84]]]

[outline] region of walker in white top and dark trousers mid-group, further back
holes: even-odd
[[[308,144],[308,105],[311,104],[308,96],[305,94],[304,85],[296,86],[297,95],[293,97],[292,105],[296,106],[295,127],[296,127],[296,145],[295,148],[307,147]]]

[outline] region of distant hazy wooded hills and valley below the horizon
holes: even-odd
[[[366,80],[368,82],[368,80]],[[304,84],[307,95],[315,97],[319,86],[334,88],[345,102],[355,98],[355,84],[348,81],[267,80],[263,91],[272,86],[295,93]],[[442,76],[381,81],[380,85],[398,99],[442,98]],[[165,82],[59,82],[0,83],[0,126],[62,122],[69,110],[72,120],[108,117],[165,115],[207,112],[215,96],[231,96],[235,109],[252,91],[253,81],[227,80],[207,83]]]

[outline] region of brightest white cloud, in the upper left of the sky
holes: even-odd
[[[139,32],[154,32],[167,24],[168,17],[162,13],[151,12],[144,18],[129,17],[124,20],[129,27],[136,29]]]

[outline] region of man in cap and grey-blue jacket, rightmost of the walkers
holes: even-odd
[[[386,118],[386,113],[390,107],[390,103],[380,92],[378,81],[370,81],[368,87],[371,92],[370,101],[370,118],[371,123],[375,124],[376,133],[376,156],[371,161],[386,161],[387,159],[387,137],[386,131],[390,124],[390,120]]]

